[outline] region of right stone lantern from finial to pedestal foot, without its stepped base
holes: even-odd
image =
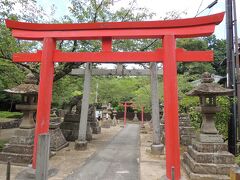
[[[215,126],[214,116],[220,112],[220,107],[216,104],[217,96],[231,95],[231,89],[226,89],[217,83],[213,83],[213,78],[207,72],[203,73],[201,84],[187,93],[189,96],[198,96],[200,106],[196,108],[202,114],[202,124],[199,140],[201,142],[223,142],[223,138],[218,134]]]

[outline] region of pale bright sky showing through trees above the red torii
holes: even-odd
[[[126,7],[129,0],[114,0],[114,9],[118,9],[122,6]],[[151,12],[155,12],[156,16],[153,20],[157,20],[160,17],[165,17],[166,13],[169,11],[179,11],[186,12],[182,15],[182,18],[194,17],[200,7],[200,11],[205,9],[214,0],[137,0],[138,7],[148,8]],[[202,5],[200,6],[202,2]],[[51,4],[56,6],[56,16],[61,17],[64,14],[68,14],[68,7],[70,3],[68,0],[38,0],[38,3],[45,7],[47,11],[50,12]],[[240,34],[240,2],[236,0],[237,3],[237,14],[238,16],[238,34]],[[225,0],[218,0],[211,10],[206,9],[199,16],[215,14],[218,12],[225,11]],[[225,39],[225,21],[223,21],[219,26],[216,27],[215,34],[218,38]]]

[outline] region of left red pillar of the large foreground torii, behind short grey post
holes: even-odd
[[[50,109],[52,101],[52,86],[54,76],[53,54],[56,42],[52,38],[45,38],[43,41],[43,51],[40,66],[40,82],[37,103],[37,121],[34,136],[33,162],[36,168],[38,135],[47,133],[49,130]]]

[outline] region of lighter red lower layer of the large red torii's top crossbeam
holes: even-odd
[[[146,39],[162,38],[175,34],[177,38],[209,36],[214,32],[215,24],[164,29],[120,29],[120,30],[73,30],[73,31],[26,31],[13,29],[12,34],[18,39],[42,40],[52,37],[57,40],[96,40],[106,37],[112,39]]]

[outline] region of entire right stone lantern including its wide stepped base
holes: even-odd
[[[197,110],[203,115],[200,134],[183,154],[183,167],[190,179],[229,179],[230,168],[236,166],[234,156],[227,151],[227,143],[223,142],[213,118],[220,111],[216,97],[231,93],[231,89],[213,83],[209,73],[204,73],[202,83],[188,93],[189,96],[199,96]]]

